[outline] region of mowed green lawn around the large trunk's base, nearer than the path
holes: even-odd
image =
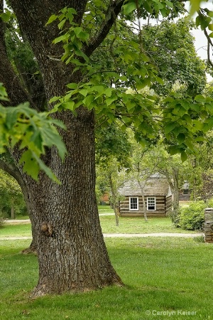
[[[20,254],[29,244],[0,242],[1,320],[213,319],[211,244],[184,238],[108,238],[111,262],[125,287],[38,299],[29,297],[38,279],[37,258]]]

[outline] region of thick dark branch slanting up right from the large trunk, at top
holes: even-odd
[[[102,22],[102,25],[100,26],[94,38],[91,39],[88,46],[85,46],[83,49],[84,53],[87,56],[91,55],[93,51],[102,43],[102,41],[104,41],[104,38],[106,38],[107,34],[109,33],[111,26],[116,21],[117,16],[121,12],[123,4],[124,0],[110,1],[107,12],[105,14],[105,20]]]

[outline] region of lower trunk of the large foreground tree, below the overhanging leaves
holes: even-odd
[[[69,156],[62,164],[53,150],[51,163],[62,184],[46,176],[40,176],[40,183],[26,178],[38,244],[39,281],[34,296],[121,284],[109,262],[99,224],[93,115],[86,113],[82,111],[77,118],[64,113]]]

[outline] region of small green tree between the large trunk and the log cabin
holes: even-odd
[[[126,181],[126,171],[131,165],[128,134],[122,132],[121,127],[115,123],[97,130],[96,154],[97,187],[104,185],[104,192],[110,195],[116,226],[119,226],[119,188]]]

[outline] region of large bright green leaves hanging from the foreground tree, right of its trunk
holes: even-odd
[[[107,64],[100,63],[100,59],[94,60],[96,52],[93,55],[87,52],[88,43],[92,41],[93,28],[99,23],[94,16],[91,2],[80,26],[74,22],[76,12],[72,8],[66,7],[58,15],[51,16],[48,23],[59,21],[60,36],[53,43],[62,43],[62,60],[75,65],[73,73],[82,74],[81,82],[67,84],[65,96],[53,97],[50,100],[55,104],[51,112],[77,112],[78,107],[84,106],[87,110],[95,111],[97,121],[104,119],[110,124],[119,119],[123,123],[123,129],[132,127],[136,139],[142,144],[151,142],[161,134],[170,145],[170,152],[180,152],[182,160],[187,158],[188,153],[195,152],[194,142],[203,139],[202,133],[207,132],[213,124],[212,98],[197,95],[196,90],[193,90],[189,97],[170,92],[169,97],[164,97],[160,102],[156,95],[150,92],[141,94],[140,90],[145,87],[163,85],[160,78],[163,71],[160,75],[152,55],[148,53],[146,46],[143,46],[140,23],[138,36],[129,31],[130,37],[119,39],[119,32],[124,28],[124,20],[132,19],[131,14],[140,18],[144,16],[142,9],[146,9],[151,16],[161,14],[168,17],[176,4],[176,1],[146,1],[146,4],[143,1],[125,1],[121,16],[116,21],[114,35],[109,33],[109,37],[102,43],[111,55],[114,68],[112,64],[107,68]],[[99,8],[100,1],[95,1],[95,6],[96,9]],[[70,25],[68,28],[67,23]],[[192,46],[190,38],[189,43]],[[180,60],[184,59],[185,52],[179,50]],[[195,55],[194,53],[194,57]],[[202,70],[204,75],[203,66],[197,70]],[[182,72],[182,81],[186,81],[185,76],[186,73]],[[188,77],[187,80],[192,83],[195,82],[195,78],[196,76],[194,79]],[[200,89],[197,89],[199,93],[204,87],[201,78],[198,84]]]

